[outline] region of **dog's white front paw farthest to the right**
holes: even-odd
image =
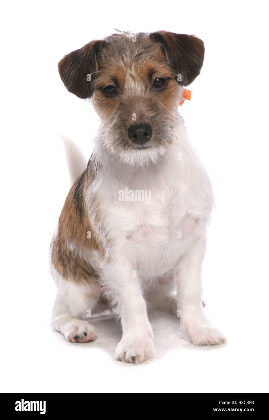
[[[196,346],[214,346],[225,344],[226,339],[216,328],[211,325],[201,325],[200,323],[183,323],[183,329]]]

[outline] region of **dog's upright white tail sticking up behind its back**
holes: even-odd
[[[62,135],[63,146],[65,149],[65,157],[67,161],[69,177],[71,185],[76,181],[78,176],[85,171],[87,166],[87,160],[84,154],[81,152],[78,146],[68,139],[68,137]]]

